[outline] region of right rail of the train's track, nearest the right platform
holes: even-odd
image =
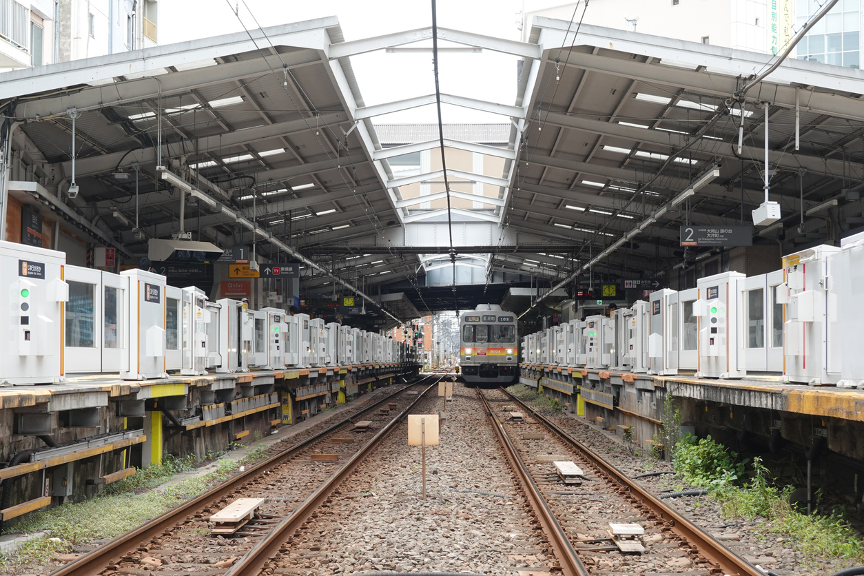
[[[624,472],[621,472],[614,465],[608,463],[598,454],[592,452],[588,446],[585,446],[579,440],[573,438],[555,422],[550,421],[537,412],[537,410],[531,408],[525,402],[522,402],[522,400],[517,396],[513,396],[507,390],[503,388],[501,390],[507,396],[510,396],[513,401],[518,402],[520,406],[528,410],[532,416],[537,418],[537,421],[542,422],[546,427],[549,427],[550,430],[558,434],[562,440],[569,442],[569,444],[579,450],[600,469],[600,472],[607,475],[607,477],[612,478],[614,482],[623,484],[626,491],[630,491],[632,497],[638,500],[639,503],[644,504],[645,507],[657,515],[658,518],[672,530],[672,532],[689,542],[689,544],[694,546],[705,558],[721,567],[724,574],[727,574],[728,576],[765,576],[764,573],[759,572],[756,567],[753,567],[752,564],[741,558],[738,554],[735,554],[734,551],[724,546],[720,541],[715,540],[715,538],[709,535],[708,532],[705,532],[696,526],[696,524],[690,522],[685,516],[678,513],[676,510],[672,510],[669,506],[661,502],[658,497],[652,495],[651,492],[645,490],[630,478],[627,478]]]

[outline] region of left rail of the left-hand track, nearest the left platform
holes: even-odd
[[[392,394],[384,396],[378,402],[373,402],[368,407],[355,412],[344,420],[335,422],[332,426],[309,436],[306,440],[297,442],[294,446],[290,446],[283,452],[278,453],[269,459],[265,459],[263,462],[251,467],[246,472],[242,472],[238,474],[238,476],[226,480],[223,484],[214,486],[211,490],[206,491],[198,497],[194,497],[191,500],[187,500],[187,502],[175,506],[161,516],[156,516],[153,520],[139,526],[137,529],[131,530],[124,535],[118,536],[112,541],[106,542],[91,552],[69,562],[66,566],[54,570],[54,572],[50,573],[49,576],[92,576],[93,574],[102,572],[105,568],[111,565],[111,554],[122,554],[129,548],[137,546],[138,542],[152,539],[154,536],[164,532],[165,530],[174,528],[175,523],[178,522],[180,518],[192,516],[195,513],[200,512],[200,510],[204,510],[213,502],[213,500],[236,490],[239,486],[245,484],[245,482],[248,482],[251,478],[254,478],[259,472],[264,472],[265,468],[271,468],[273,465],[283,463],[283,461],[290,459],[296,453],[302,452],[302,450],[305,450],[317,440],[321,440],[321,438],[327,436],[327,434],[333,433],[336,429],[346,425],[346,423],[357,418],[359,415],[378,408],[380,404],[391,400],[393,396],[397,396],[397,394],[403,392],[405,389],[408,389],[411,386],[416,386],[424,380],[435,376],[438,375],[433,374],[424,377],[418,383],[409,384],[402,389],[398,389]]]

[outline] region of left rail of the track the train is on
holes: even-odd
[[[483,396],[480,389],[477,389],[477,396],[480,396],[480,402],[483,402],[483,408],[486,409],[490,420],[492,420],[492,428],[495,430],[495,435],[498,436],[507,459],[510,460],[513,470],[517,473],[519,482],[524,487],[525,496],[528,498],[531,508],[537,512],[537,519],[540,521],[540,525],[543,526],[544,533],[549,536],[552,549],[555,551],[556,558],[561,564],[563,576],[589,576],[588,568],[582,564],[579,554],[576,554],[573,544],[570,543],[570,539],[567,537],[567,533],[564,532],[561,524],[558,523],[555,514],[552,513],[552,509],[549,507],[549,503],[546,502],[537,484],[534,483],[534,479],[531,478],[528,468],[525,467],[524,462],[519,458],[516,447],[513,446],[510,438],[507,437],[501,421],[499,421],[498,416],[490,408],[489,402],[486,401],[486,396]]]

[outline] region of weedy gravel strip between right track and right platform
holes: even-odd
[[[589,424],[584,417],[553,410],[540,412],[630,478],[649,472],[672,471],[669,462],[654,459],[647,451],[641,455],[628,452],[617,434]],[[658,495],[699,488],[685,483],[674,473],[638,478],[636,482]],[[728,518],[721,514],[720,504],[709,496],[670,498],[665,503],[747,561],[782,576],[826,575],[852,566],[849,560],[806,557],[797,551],[794,542],[769,533],[770,522],[766,518]]]

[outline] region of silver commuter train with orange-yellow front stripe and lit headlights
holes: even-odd
[[[518,378],[516,314],[480,304],[459,316],[459,359],[467,384],[511,384]]]

